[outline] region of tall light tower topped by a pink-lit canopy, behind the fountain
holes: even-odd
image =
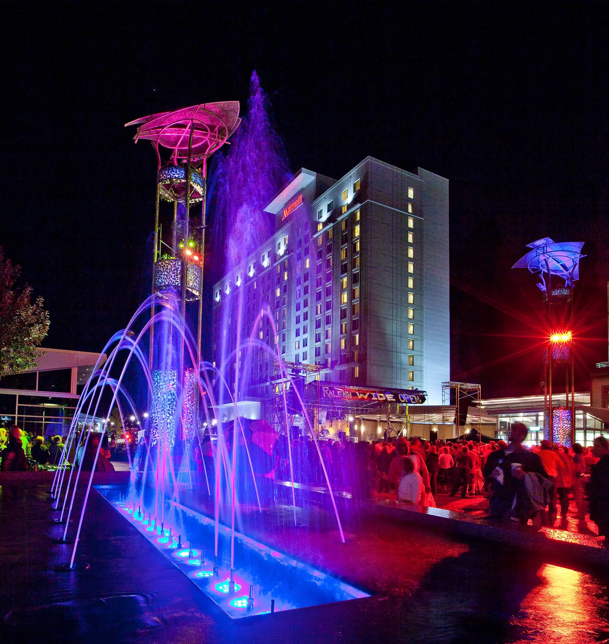
[[[134,140],[138,142],[140,139],[147,139],[156,151],[152,294],[164,290],[173,290],[179,294],[181,317],[185,323],[186,304],[198,302],[197,365],[201,361],[203,321],[207,162],[227,142],[240,122],[239,102],[234,100],[202,103],[173,112],[152,114],[125,124],[125,127],[138,126]],[[172,204],[172,213],[163,213],[161,202]],[[195,204],[201,204],[201,211],[191,218],[191,209]],[[163,220],[166,222],[165,234]],[[151,316],[154,316],[154,307],[151,307]],[[174,416],[177,413],[175,403],[179,386],[188,394],[185,395],[181,414],[183,425],[185,406],[190,407],[190,411],[186,413],[190,422],[188,429],[184,427],[185,437],[194,431],[192,414],[197,406],[197,388],[194,387],[192,371],[185,371],[183,338],[179,345],[177,365],[170,364],[167,360],[165,363],[159,360],[158,365],[154,365],[154,327],[150,328],[149,359],[154,384],[150,414],[152,444],[163,431],[167,436],[165,442],[170,447],[173,446],[178,422]],[[158,349],[160,348],[162,347],[159,346]],[[197,368],[197,365],[194,367]]]

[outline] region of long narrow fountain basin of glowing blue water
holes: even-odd
[[[126,488],[98,486],[100,494],[160,553],[232,618],[316,606],[370,596],[292,556],[235,533],[234,592],[230,592],[230,528],[220,526],[218,573],[214,574],[214,519],[176,502],[165,502],[161,524],[145,507],[125,506]],[[178,543],[181,542],[181,547]],[[252,588],[253,608],[248,610]]]

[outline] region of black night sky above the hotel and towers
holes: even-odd
[[[44,346],[100,350],[147,295],[155,158],[123,124],[244,110],[257,70],[292,171],[340,178],[371,155],[450,179],[451,377],[483,397],[541,391],[540,294],[511,266],[544,236],[585,242],[587,388],[607,359],[608,11],[208,5],[3,5],[0,244],[50,310]]]

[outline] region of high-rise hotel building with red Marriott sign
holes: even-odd
[[[272,395],[275,348],[335,383],[418,388],[441,404],[450,379],[448,180],[368,156],[336,181],[301,169],[266,207],[275,234],[214,285],[212,360]],[[238,303],[241,341],[235,352]],[[255,325],[255,328],[253,328]],[[260,344],[262,343],[262,344]],[[246,355],[247,354],[247,355]],[[240,396],[241,398],[242,396]]]

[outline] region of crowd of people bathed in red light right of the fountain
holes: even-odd
[[[509,443],[491,440],[422,441],[419,438],[373,442],[368,480],[379,493],[397,500],[434,505],[433,495],[489,497],[489,516],[533,526],[567,527],[570,497],[575,518],[590,518],[599,535],[609,535],[609,442],[597,437],[587,449],[542,440],[527,448],[528,429],[513,424]],[[586,504],[586,496],[588,503]],[[609,540],[608,540],[609,541]]]

